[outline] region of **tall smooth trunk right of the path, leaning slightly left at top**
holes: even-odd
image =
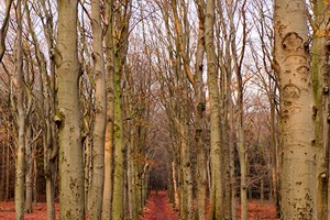
[[[220,131],[220,107],[218,88],[218,65],[213,43],[215,25],[215,1],[207,0],[206,7],[206,53],[207,53],[207,73],[209,86],[209,102],[211,118],[211,198],[210,198],[210,219],[223,219],[223,167],[222,167],[222,147]]]

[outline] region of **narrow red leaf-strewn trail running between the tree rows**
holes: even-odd
[[[166,191],[153,191],[140,220],[178,220],[178,213],[173,210]]]

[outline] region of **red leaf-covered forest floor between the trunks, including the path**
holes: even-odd
[[[59,219],[59,206],[56,204],[56,220]],[[275,206],[271,201],[250,200],[248,205],[249,220],[278,220],[275,218]],[[240,210],[239,210],[240,212]],[[33,213],[25,213],[25,220],[46,220],[46,204],[33,206]],[[0,220],[14,220],[14,202],[0,201]],[[207,218],[208,219],[208,218]],[[153,191],[139,220],[178,220],[178,212],[169,204],[166,191]]]

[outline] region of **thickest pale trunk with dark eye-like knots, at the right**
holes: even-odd
[[[312,84],[304,0],[276,0],[274,67],[280,80],[282,218],[317,219]]]

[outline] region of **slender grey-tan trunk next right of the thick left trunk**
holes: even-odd
[[[101,219],[105,178],[105,132],[107,120],[106,70],[102,48],[100,0],[91,1],[91,25],[94,33],[94,72],[96,84],[96,116],[92,139],[92,174],[88,191],[88,217]]]

